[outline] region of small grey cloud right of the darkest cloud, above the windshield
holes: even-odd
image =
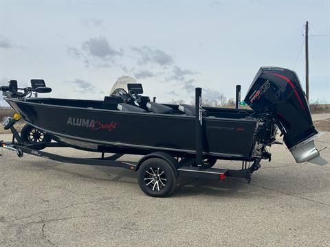
[[[146,45],[142,47],[132,47],[131,49],[140,55],[140,60],[137,61],[137,64],[139,65],[151,63],[160,66],[167,66],[174,62],[172,56],[166,54],[160,49],[155,49]]]

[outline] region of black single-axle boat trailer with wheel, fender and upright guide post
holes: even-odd
[[[99,158],[74,158],[41,151],[44,148],[69,148],[69,145],[63,145],[63,143],[54,141],[43,143],[26,143],[22,141],[19,132],[14,128],[14,124],[20,119],[17,113],[14,117],[8,119],[8,123],[5,125],[5,130],[10,129],[12,132],[12,141],[0,141],[0,147],[5,150],[17,152],[17,156],[20,158],[22,158],[25,153],[62,163],[126,168],[139,173],[138,181],[140,187],[148,196],[169,196],[170,193],[173,193],[177,185],[177,176],[212,180],[225,180],[227,177],[236,177],[245,178],[245,180],[250,183],[252,173],[261,167],[261,158],[254,158],[253,161],[242,161],[241,169],[213,168],[212,165],[214,164],[210,165],[203,161],[203,120],[200,88],[196,89],[195,107],[197,113],[195,115],[197,140],[195,164],[197,165],[195,166],[192,166],[189,162],[191,159],[175,157],[167,152],[151,152],[142,156],[140,161],[131,162],[118,161],[118,158],[124,154],[104,156],[104,152],[102,152]],[[144,172],[141,172],[142,169],[144,169]],[[166,177],[163,175],[164,172]],[[150,177],[145,176],[145,174],[150,174]],[[152,188],[148,186],[151,182],[153,182]]]

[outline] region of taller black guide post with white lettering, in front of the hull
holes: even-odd
[[[196,129],[196,164],[203,165],[203,112],[201,108],[201,88],[195,89],[195,129]]]

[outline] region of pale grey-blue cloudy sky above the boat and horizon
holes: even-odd
[[[259,67],[293,69],[330,103],[330,1],[3,1],[0,82],[43,78],[52,97],[102,99],[122,75],[159,102],[245,95]],[[322,36],[320,36],[322,35]]]

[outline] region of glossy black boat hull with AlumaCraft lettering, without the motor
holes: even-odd
[[[29,124],[74,148],[127,154],[159,150],[178,156],[195,154],[192,116],[105,110],[98,108],[102,102],[79,99],[69,103],[65,99],[6,100]],[[250,160],[259,119],[238,118],[234,109],[223,115],[236,118],[203,117],[203,154]]]

